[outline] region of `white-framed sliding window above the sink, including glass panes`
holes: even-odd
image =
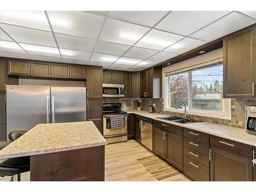
[[[223,99],[222,61],[165,74],[164,110],[230,119],[230,99]]]

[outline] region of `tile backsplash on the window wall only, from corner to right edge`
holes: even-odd
[[[158,113],[183,117],[183,113],[167,112],[163,111],[163,99],[150,99],[141,98],[141,105],[143,110],[147,110],[149,105],[156,104],[156,111]],[[190,115],[191,119],[201,120],[205,122],[224,124],[228,126],[235,126],[244,129],[245,128],[245,105],[256,105],[255,99],[231,99],[231,120],[204,117],[198,115]]]

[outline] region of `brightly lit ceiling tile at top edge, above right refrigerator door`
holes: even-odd
[[[104,17],[82,11],[47,11],[54,32],[97,38]]]

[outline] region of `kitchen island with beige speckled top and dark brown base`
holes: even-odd
[[[92,121],[38,124],[0,151],[30,156],[31,181],[104,181],[104,145]]]

